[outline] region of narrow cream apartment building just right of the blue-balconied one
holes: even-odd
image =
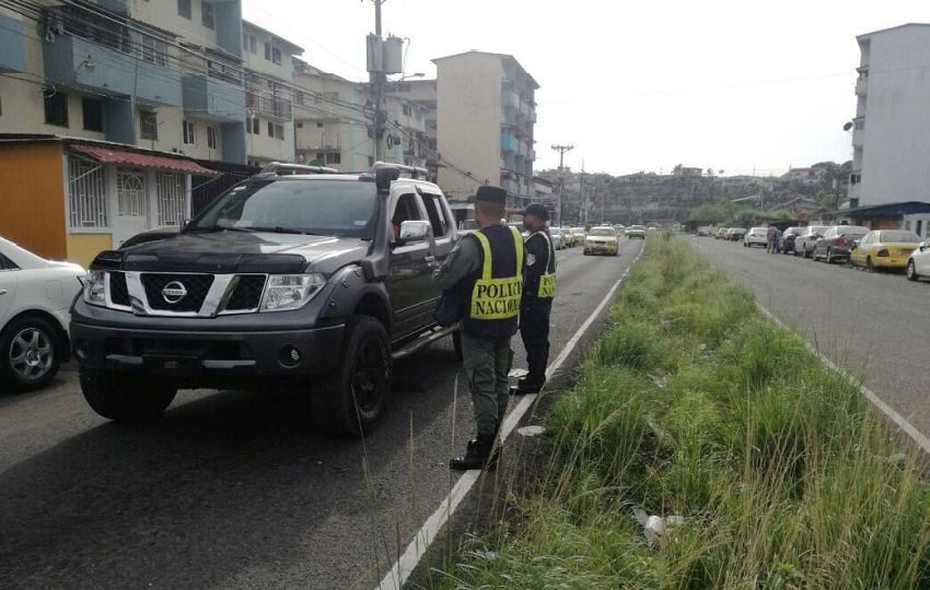
[[[242,23],[248,163],[294,162],[293,57],[303,48],[253,23]]]

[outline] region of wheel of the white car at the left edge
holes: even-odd
[[[42,318],[23,316],[0,332],[0,384],[13,391],[48,385],[61,366],[55,329]]]

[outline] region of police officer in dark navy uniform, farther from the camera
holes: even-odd
[[[556,294],[556,249],[546,228],[548,210],[531,204],[523,211],[526,238],[526,268],[520,306],[520,335],[526,349],[526,377],[518,380],[512,393],[538,393],[546,382],[549,361],[549,314]]]

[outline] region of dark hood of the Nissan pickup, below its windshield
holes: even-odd
[[[267,272],[328,274],[360,260],[370,248],[358,238],[270,232],[186,233],[123,250],[125,270],[155,272]]]

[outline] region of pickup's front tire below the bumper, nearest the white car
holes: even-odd
[[[143,422],[161,416],[177,389],[150,376],[129,376],[81,367],[81,391],[94,412],[114,422]]]

